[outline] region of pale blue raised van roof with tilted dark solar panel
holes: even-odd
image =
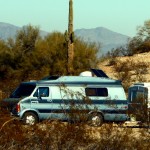
[[[91,85],[121,85],[120,80],[110,79],[102,70],[91,69],[91,76],[84,73],[83,76],[48,76],[39,81],[30,81],[38,85],[62,85],[62,84],[91,84]],[[27,83],[27,82],[26,82]]]

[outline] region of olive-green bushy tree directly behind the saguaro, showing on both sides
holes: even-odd
[[[72,61],[73,75],[78,75],[81,71],[85,71],[92,67],[97,67],[98,45],[95,43],[86,43],[85,41],[74,39],[74,59]],[[67,75],[67,43],[65,34],[53,32],[41,39],[36,44],[35,55],[38,59],[34,66],[41,66],[45,73],[55,75]],[[40,55],[39,55],[40,53]],[[33,60],[33,59],[32,59]]]

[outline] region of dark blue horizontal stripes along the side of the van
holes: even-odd
[[[40,103],[42,102],[42,100],[40,101]],[[54,99],[52,100],[51,102],[48,102],[46,100],[44,100],[42,103],[51,103],[52,105],[56,104],[57,105],[57,108],[56,106],[54,106],[55,108],[50,108],[50,109],[38,109],[38,111],[40,113],[69,113],[69,112],[72,112],[72,110],[70,109],[63,109],[63,106],[61,106],[62,104],[65,104],[65,105],[71,105],[71,104],[77,104],[77,107],[78,105],[80,106],[80,104],[82,105],[110,105],[112,106],[109,107],[109,108],[106,108],[106,109],[98,109],[100,111],[102,111],[103,113],[109,113],[109,114],[126,114],[127,113],[127,110],[125,109],[117,109],[114,106],[118,106],[118,105],[124,105],[124,106],[128,106],[128,101],[127,100],[89,100],[89,101],[84,101],[84,100],[63,100],[63,99]],[[105,106],[107,107],[107,106]],[[83,110],[80,110],[81,112],[82,111],[87,111],[87,112],[90,112],[91,110],[89,109],[83,109]]]

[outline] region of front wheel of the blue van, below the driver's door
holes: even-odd
[[[38,117],[33,112],[26,112],[23,116],[23,123],[26,125],[35,125],[38,123]]]

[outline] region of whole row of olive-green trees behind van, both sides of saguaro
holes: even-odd
[[[79,38],[74,43],[72,75],[97,67],[99,46]],[[10,93],[21,81],[48,75],[67,75],[65,33],[53,32],[41,38],[39,29],[28,25],[18,31],[16,39],[0,40],[0,90]]]

